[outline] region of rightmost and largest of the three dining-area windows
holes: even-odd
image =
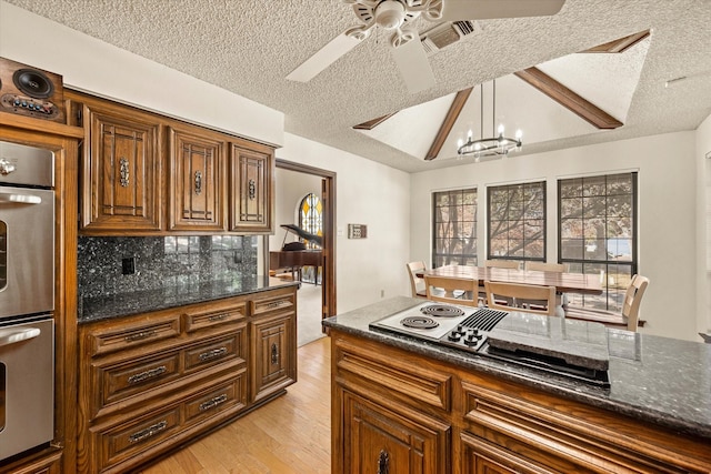
[[[600,275],[602,296],[570,294],[571,304],[621,311],[637,273],[637,173],[558,181],[559,260]]]

